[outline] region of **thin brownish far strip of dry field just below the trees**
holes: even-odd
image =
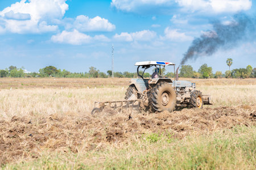
[[[1,78],[0,89],[17,88],[87,88],[129,86],[130,78]],[[189,79],[201,86],[256,85],[255,79]]]

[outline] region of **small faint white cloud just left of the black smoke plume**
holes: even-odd
[[[160,36],[161,40],[171,41],[191,41],[193,37],[185,35],[184,32],[179,32],[178,29],[170,29],[167,27],[164,29],[164,37]]]

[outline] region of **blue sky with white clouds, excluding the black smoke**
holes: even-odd
[[[52,65],[71,72],[96,67],[135,72],[138,61],[179,65],[194,39],[213,30],[213,22],[235,23],[245,14],[255,23],[254,0],[0,0],[0,69],[28,71]],[[256,67],[255,31],[246,39],[185,63],[213,72]],[[172,71],[172,66],[167,71]]]

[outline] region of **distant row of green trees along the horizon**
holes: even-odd
[[[233,69],[230,70],[230,66],[233,63],[232,58],[228,58],[226,61],[229,66],[229,70],[222,73],[221,71],[216,71],[213,73],[212,67],[207,64],[201,65],[198,71],[193,70],[191,65],[182,65],[179,69],[179,76],[184,78],[256,78],[256,68],[253,69],[250,65],[246,68]],[[152,71],[152,73],[154,70]],[[174,77],[174,73],[166,73],[166,69],[161,70],[162,74],[168,77]],[[142,71],[139,71],[142,74]],[[17,68],[16,66],[10,66],[5,70],[0,70],[0,77],[57,77],[57,78],[108,78],[112,76],[112,71],[108,70],[106,73],[97,70],[95,67],[90,67],[89,72],[85,73],[71,73],[65,69],[57,69],[54,66],[47,66],[43,69],[39,69],[36,73],[26,73],[24,67]],[[144,73],[145,78],[149,78],[150,73]],[[125,71],[114,72],[114,77],[117,78],[137,78],[137,73],[130,73]]]

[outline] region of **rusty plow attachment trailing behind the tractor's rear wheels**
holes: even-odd
[[[121,111],[124,108],[139,108],[139,100],[122,100],[122,101],[95,101],[92,115],[100,113],[105,107],[112,109],[119,109]]]

